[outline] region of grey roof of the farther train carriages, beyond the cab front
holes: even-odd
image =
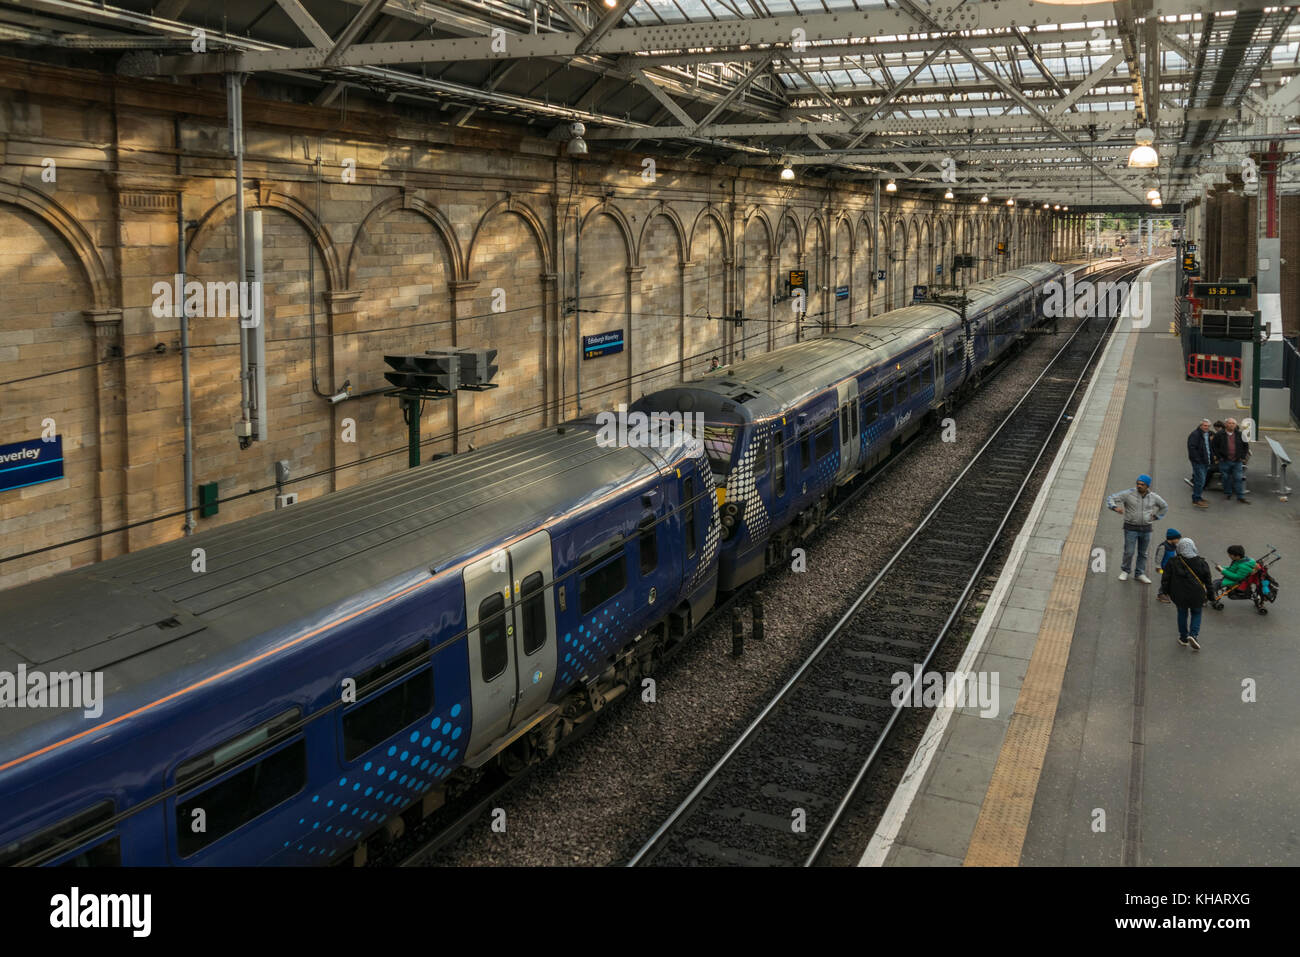
[[[1058,274],[1054,263],[1010,269],[971,283],[966,295],[974,313],[1011,298],[1018,291]],[[753,359],[741,359],[642,397],[637,407],[702,412],[706,420],[764,419],[780,415],[816,393],[884,359],[872,352],[889,347],[909,348],[957,324],[957,313],[933,303],[892,309],[833,329],[805,342],[774,348]],[[890,352],[892,354],[892,352]]]

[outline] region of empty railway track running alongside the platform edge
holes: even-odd
[[[1093,274],[1122,280],[1123,264]],[[629,861],[818,862],[893,729],[897,672],[924,672],[961,619],[998,537],[1114,317],[1088,320],[913,534],[740,739]]]

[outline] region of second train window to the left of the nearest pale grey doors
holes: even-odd
[[[285,711],[260,728],[177,768],[176,783],[179,785],[220,772],[222,765],[261,755],[217,784],[190,792],[177,801],[176,843],[181,857],[190,857],[225,837],[307,785],[307,741],[302,736],[277,750],[266,750],[296,729],[299,714],[296,707]],[[205,830],[195,832],[195,811],[200,810]]]

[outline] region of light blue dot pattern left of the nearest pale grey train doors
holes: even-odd
[[[464,706],[458,702],[445,714],[428,718],[426,724],[421,722],[410,732],[402,746],[390,745],[381,752],[386,763],[376,766],[377,762],[367,761],[326,785],[324,792],[312,794],[311,804],[316,806],[311,817],[298,819],[299,836],[283,843],[276,862],[329,858],[347,850],[367,831],[451,774],[460,757],[456,742],[465,733],[464,714]],[[324,807],[320,806],[322,793],[326,796]],[[335,801],[338,810],[332,815],[329,809]]]

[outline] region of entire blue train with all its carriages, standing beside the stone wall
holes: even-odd
[[[569,423],[0,593],[0,863],[363,862],[640,688],[1060,276],[645,397],[637,447]]]

